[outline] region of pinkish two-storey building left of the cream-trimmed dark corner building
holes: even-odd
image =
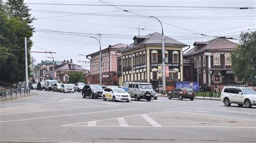
[[[99,61],[99,51],[86,55],[86,58],[90,60],[90,84],[99,84],[99,68],[102,69],[102,84],[103,85],[118,85],[118,75],[117,72],[117,58],[121,56],[117,53],[127,45],[117,44],[109,45],[109,47],[102,49],[102,66],[100,66]]]

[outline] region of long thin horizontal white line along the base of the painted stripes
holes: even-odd
[[[87,127],[87,125],[70,125],[70,127]],[[95,127],[156,127],[156,126],[95,126]],[[173,127],[173,128],[256,128],[244,126],[159,126],[159,127]]]

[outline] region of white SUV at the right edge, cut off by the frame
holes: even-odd
[[[240,107],[245,105],[246,108],[251,108],[252,105],[256,105],[256,92],[245,87],[224,87],[221,91],[220,101],[224,102],[225,106],[236,103]]]

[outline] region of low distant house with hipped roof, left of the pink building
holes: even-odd
[[[69,75],[75,72],[81,72],[82,73],[81,78],[86,78],[87,76],[89,76],[89,70],[82,68],[79,65],[76,65],[75,63],[73,63],[71,59],[70,61],[69,60],[62,61],[62,64],[60,65],[56,64],[54,66],[54,73],[53,73],[53,66],[51,66],[49,70],[46,71],[45,73],[45,79],[57,80],[60,83],[70,83]],[[55,78],[53,78],[53,74]]]

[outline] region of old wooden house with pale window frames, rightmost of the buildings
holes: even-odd
[[[193,48],[184,54],[184,79],[199,82],[201,87],[238,84],[234,76],[231,52],[237,44],[224,38],[215,38],[206,42],[194,42]],[[212,85],[212,86],[211,86]],[[214,86],[215,87],[215,86]]]

